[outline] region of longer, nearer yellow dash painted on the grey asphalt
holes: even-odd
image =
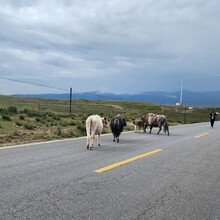
[[[126,160],[123,160],[123,161],[120,161],[120,162],[111,164],[111,165],[109,165],[109,166],[102,167],[102,168],[100,168],[100,169],[95,170],[95,172],[96,172],[96,173],[102,173],[102,172],[105,172],[105,171],[107,171],[107,170],[111,170],[111,169],[116,168],[116,167],[119,167],[119,166],[121,166],[121,165],[124,165],[124,164],[130,163],[130,162],[133,162],[133,161],[135,161],[135,160],[141,159],[141,158],[143,158],[143,157],[149,156],[149,155],[151,155],[151,154],[158,153],[158,152],[160,152],[160,151],[162,151],[162,149],[156,149],[156,150],[153,150],[153,151],[144,153],[144,154],[140,154],[140,155],[138,155],[138,156],[131,157],[131,158],[129,158],[129,159],[126,159]]]

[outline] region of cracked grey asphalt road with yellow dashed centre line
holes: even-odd
[[[220,122],[156,132],[0,148],[0,219],[219,220]]]

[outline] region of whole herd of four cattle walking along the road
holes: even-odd
[[[163,131],[167,133],[167,135],[170,135],[167,117],[165,115],[148,113],[140,119],[133,120],[132,123],[135,126],[135,132],[143,130],[146,133],[146,128],[149,126],[149,133],[151,133],[153,127],[158,127],[159,130],[157,134],[159,134],[163,128]],[[97,135],[98,146],[101,146],[100,136],[103,127],[110,127],[113,134],[113,141],[117,141],[117,143],[119,143],[119,136],[126,125],[127,123],[125,118],[123,118],[120,114],[114,116],[110,123],[106,117],[101,118],[99,115],[90,115],[86,119],[87,149],[93,149],[93,140],[95,139],[95,135]]]

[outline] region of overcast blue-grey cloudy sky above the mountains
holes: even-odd
[[[0,94],[220,90],[219,21],[219,0],[1,0]]]

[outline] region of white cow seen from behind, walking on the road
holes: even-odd
[[[100,135],[102,133],[103,126],[107,127],[108,121],[107,118],[101,118],[99,115],[90,115],[86,119],[86,134],[87,134],[87,149],[93,149],[93,140],[95,135],[98,135],[98,146],[100,144]]]

